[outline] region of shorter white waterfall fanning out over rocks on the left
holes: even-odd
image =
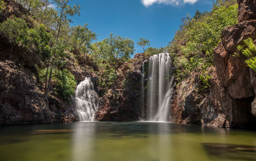
[[[79,121],[93,121],[98,109],[98,95],[90,78],[85,78],[76,88],[76,110]]]

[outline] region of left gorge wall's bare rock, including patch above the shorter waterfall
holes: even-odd
[[[0,22],[9,17],[25,18],[21,4],[5,0],[6,8],[0,13]],[[27,20],[28,25],[31,21]],[[39,55],[22,50],[4,34],[0,34],[0,125],[16,123],[74,122],[77,120],[74,99],[63,99],[58,94],[49,94],[45,99],[44,87],[38,78],[37,67],[42,66]],[[94,76],[93,62],[86,57],[67,59],[65,68],[79,83],[86,76]],[[23,61],[24,65],[21,65]],[[97,83],[97,78],[93,79]]]

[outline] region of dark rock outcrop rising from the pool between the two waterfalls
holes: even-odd
[[[147,60],[143,53],[137,54],[131,62],[125,62],[118,69],[118,88],[108,90],[100,98],[96,120],[137,121],[141,109],[141,66]]]

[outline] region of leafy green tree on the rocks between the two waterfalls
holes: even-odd
[[[101,87],[109,88],[112,85],[115,88],[118,62],[128,60],[133,52],[132,39],[113,36],[113,34],[100,42],[93,43],[92,57],[100,67]]]

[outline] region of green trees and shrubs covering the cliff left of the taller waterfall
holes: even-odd
[[[0,1],[0,11],[8,12],[4,9],[10,2]],[[19,0],[17,3],[22,4],[24,12],[5,17],[0,32],[12,44],[11,54],[15,46],[22,49],[19,66],[26,66],[30,54],[40,57],[40,62],[33,66],[45,96],[58,93],[68,99],[74,95],[76,73],[71,68],[90,61],[93,71],[88,72],[99,75],[100,87],[105,91],[115,87],[118,64],[130,59],[134,52],[131,39],[110,34],[92,44],[97,34],[88,24],[70,27],[71,18],[80,14],[81,7],[72,6],[69,0]]]

